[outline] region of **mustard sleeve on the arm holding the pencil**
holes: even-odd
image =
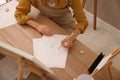
[[[85,13],[83,11],[83,7],[81,5],[80,0],[69,0],[69,4],[71,8],[73,9],[75,19],[77,21],[77,24],[75,24],[74,28],[80,29],[83,33],[88,26],[88,21],[85,16]]]

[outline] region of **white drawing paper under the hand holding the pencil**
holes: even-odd
[[[61,47],[61,40],[65,35],[43,36],[33,39],[34,56],[48,68],[64,68],[66,64],[68,48]]]

